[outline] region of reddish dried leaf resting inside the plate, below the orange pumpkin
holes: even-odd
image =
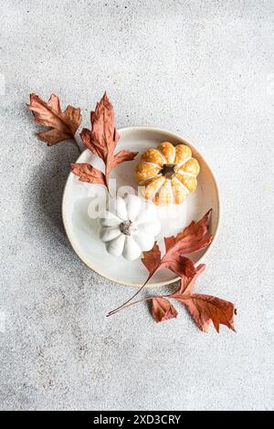
[[[143,252],[142,263],[150,272],[146,283],[161,268],[169,268],[179,277],[194,277],[196,270],[193,262],[185,254],[190,254],[208,246],[212,240],[209,233],[211,210],[199,222],[192,222],[184,231],[176,236],[164,238],[166,253],[161,258],[159,246]]]

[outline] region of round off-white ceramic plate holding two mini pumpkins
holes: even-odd
[[[195,263],[200,262],[208,249],[213,246],[220,214],[216,179],[204,158],[188,141],[173,132],[150,127],[130,127],[119,130],[119,133],[121,139],[117,151],[127,149],[139,152],[134,161],[124,162],[111,172],[111,178],[116,179],[117,189],[121,195],[128,191],[132,192],[132,188],[137,191],[133,172],[136,163],[140,160],[141,153],[145,149],[156,147],[162,141],[171,141],[174,144],[183,142],[192,149],[193,156],[201,166],[198,187],[195,193],[190,194],[183,204],[157,208],[162,223],[162,230],[157,236],[157,240],[163,249],[163,236],[178,233],[192,220],[199,220],[207,210],[212,208],[211,233],[214,239],[206,249],[191,256]],[[100,159],[92,155],[89,150],[82,152],[77,162],[90,162],[100,169],[103,167]],[[111,194],[113,196],[115,190],[112,190]],[[109,255],[98,236],[98,219],[94,218],[94,208],[97,209],[97,212],[104,208],[106,195],[103,186],[79,182],[76,175],[69,173],[62,206],[63,221],[68,239],[82,261],[101,276],[122,285],[140,287],[148,276],[141,259],[128,262],[122,257],[116,258]],[[176,279],[177,277],[171,271],[164,269],[153,276],[148,286],[163,286],[174,282]]]

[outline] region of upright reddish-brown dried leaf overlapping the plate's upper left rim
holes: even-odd
[[[113,106],[106,92],[100,102],[97,103],[96,109],[91,111],[90,120],[91,130],[84,128],[80,137],[87,148],[104,162],[104,182],[108,187],[111,170],[121,162],[132,161],[138,152],[121,151],[114,154],[120,136],[114,126]],[[73,165],[75,166],[75,164]],[[72,172],[78,174],[75,167]],[[97,183],[92,182],[92,175],[88,179],[87,182],[89,183]],[[85,182],[83,175],[81,180]]]

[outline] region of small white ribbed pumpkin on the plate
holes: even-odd
[[[100,215],[100,239],[112,256],[133,261],[142,251],[153,248],[160,232],[156,207],[132,194],[117,197],[111,203],[109,211]]]

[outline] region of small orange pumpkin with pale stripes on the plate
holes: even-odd
[[[135,170],[136,182],[143,186],[146,200],[157,205],[181,204],[197,187],[199,162],[185,144],[163,141],[157,149],[142,153]]]

